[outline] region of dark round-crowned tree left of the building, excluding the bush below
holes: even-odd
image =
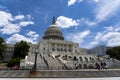
[[[25,58],[29,51],[29,47],[30,46],[26,41],[20,41],[19,43],[16,43],[14,47],[14,58]]]

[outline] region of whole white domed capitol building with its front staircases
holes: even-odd
[[[86,69],[93,68],[99,60],[95,54],[87,54],[79,44],[64,40],[61,30],[53,17],[52,24],[47,28],[38,44],[31,44],[29,54],[21,61],[21,67],[32,66],[37,50],[37,69]]]

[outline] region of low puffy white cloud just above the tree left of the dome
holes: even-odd
[[[36,32],[29,31],[27,33],[27,37],[24,35],[20,35],[20,34],[13,34],[11,37],[7,39],[6,42],[10,44],[15,44],[16,42],[20,42],[21,40],[24,40],[24,41],[31,42],[31,43],[37,43],[38,37],[39,35]]]

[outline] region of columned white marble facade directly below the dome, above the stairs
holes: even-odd
[[[42,39],[38,46],[39,54],[48,54],[51,56],[71,56],[81,57],[85,61],[85,57],[90,61],[90,58],[96,58],[94,54],[87,54],[85,49],[79,48],[78,43],[63,40],[44,40]]]

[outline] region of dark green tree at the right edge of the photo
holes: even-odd
[[[106,53],[108,55],[110,55],[111,58],[115,58],[115,59],[118,59],[120,60],[120,46],[117,46],[117,47],[113,47],[111,49],[108,49],[106,51]]]

